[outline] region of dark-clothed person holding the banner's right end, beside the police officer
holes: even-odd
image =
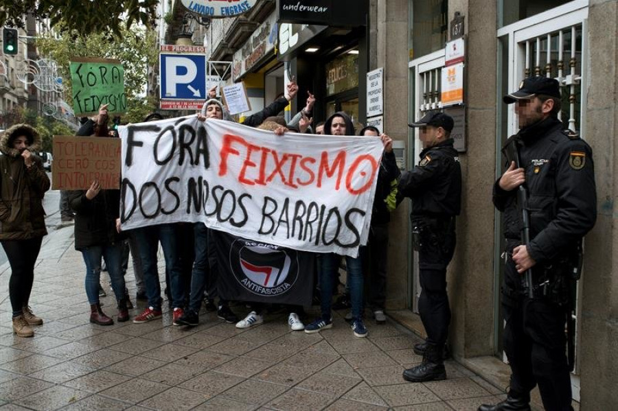
[[[374,126],[367,126],[358,133],[361,136],[380,137],[382,141],[390,139],[381,134]],[[367,240],[367,305],[374,313],[377,324],[384,324],[387,284],[387,255],[389,248],[389,222],[391,211],[396,207],[398,177],[401,174],[397,167],[395,154],[392,150],[385,150],[380,163],[376,195],[371,210],[371,226]]]

